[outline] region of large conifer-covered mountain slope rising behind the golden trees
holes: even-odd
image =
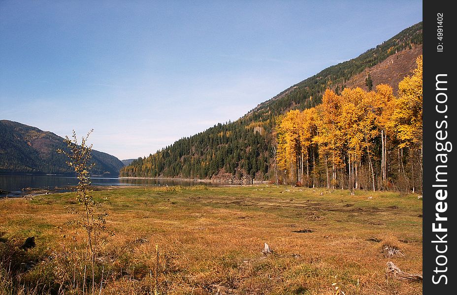
[[[373,87],[389,84],[397,91],[398,82],[415,67],[421,54],[422,22],[355,59],[330,66],[285,89],[234,122],[219,123],[134,160],[121,169],[120,175],[229,181],[272,179],[274,128],[279,116],[320,104],[326,89],[337,93],[347,87],[367,89],[368,74]]]

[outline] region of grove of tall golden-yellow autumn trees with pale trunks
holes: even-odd
[[[422,189],[422,56],[411,76],[375,91],[327,89],[278,124],[283,182],[349,189]]]

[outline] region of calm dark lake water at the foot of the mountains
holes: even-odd
[[[144,185],[144,186],[161,186],[161,185],[198,185],[201,181],[182,180],[182,179],[132,179],[118,177],[91,177],[92,185]],[[76,177],[65,175],[9,175],[0,174],[0,196],[18,196],[21,195],[23,188],[56,188],[68,187],[78,184]],[[211,183],[205,182],[210,185]],[[5,193],[6,192],[6,193]]]

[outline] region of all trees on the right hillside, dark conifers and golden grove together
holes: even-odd
[[[363,71],[421,44],[419,23],[284,90],[236,121],[134,160],[120,175],[420,190],[422,62],[417,61],[411,77],[394,85],[374,83],[369,72],[363,89],[348,85]]]

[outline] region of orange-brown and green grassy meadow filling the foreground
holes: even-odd
[[[106,188],[94,294],[422,294],[422,200],[276,185]],[[0,199],[0,294],[92,294],[75,193]],[[36,246],[22,250],[34,236]],[[263,254],[264,243],[273,253]],[[158,245],[158,246],[156,246]],[[404,257],[386,258],[384,247]]]

